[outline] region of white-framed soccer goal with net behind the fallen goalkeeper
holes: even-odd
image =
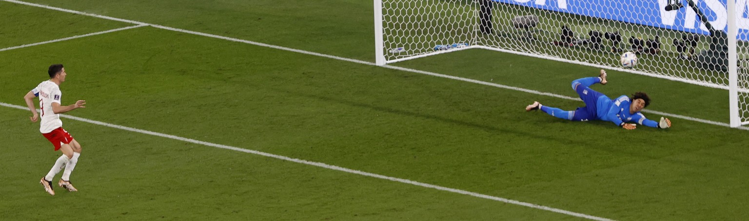
[[[465,49],[560,60],[727,90],[730,125],[749,125],[749,0],[374,3],[380,66]]]

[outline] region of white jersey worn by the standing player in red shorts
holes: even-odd
[[[43,81],[34,90],[31,90],[31,93],[39,97],[40,116],[42,119],[39,131],[42,134],[46,134],[61,127],[60,114],[52,111],[53,102],[61,104],[62,92],[60,91],[60,87],[55,82]]]

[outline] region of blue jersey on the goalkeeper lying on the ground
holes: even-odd
[[[607,96],[598,97],[595,102],[596,119],[613,122],[621,126],[623,122],[637,122],[640,125],[646,125],[652,128],[658,128],[658,122],[646,119],[640,111],[634,114],[629,113],[631,101],[627,96],[619,96],[616,99],[609,99]]]

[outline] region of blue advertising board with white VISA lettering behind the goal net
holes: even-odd
[[[676,0],[685,7],[666,11],[667,0],[493,0],[525,7],[535,7],[580,16],[611,19],[677,31],[710,34],[699,16],[685,0]],[[713,28],[727,31],[727,0],[693,0],[709,19]],[[729,0],[730,1],[730,0]],[[736,1],[739,40],[749,40],[749,0]]]

